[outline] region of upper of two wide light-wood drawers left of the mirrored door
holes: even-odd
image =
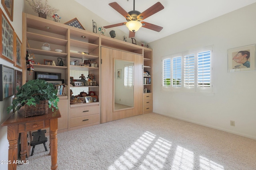
[[[99,108],[100,107],[98,105],[70,108],[70,118],[99,114]]]

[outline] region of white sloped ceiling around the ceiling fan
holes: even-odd
[[[126,10],[126,12],[133,10],[133,0],[90,0],[89,3],[88,0],[75,1],[108,21],[109,25],[126,22],[126,19],[121,14],[108,5],[109,3],[117,2],[122,8],[124,8],[124,10]],[[256,2],[256,0],[158,1],[161,2],[164,9],[143,21],[159,25],[164,28],[162,31],[156,32],[142,27],[136,32],[135,39],[137,38],[146,43],[150,43]],[[135,0],[135,10],[142,13],[158,1]],[[128,28],[124,25],[109,29],[120,29],[127,34],[129,33]]]

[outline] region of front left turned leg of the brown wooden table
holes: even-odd
[[[9,141],[8,160],[11,161],[8,164],[8,170],[16,170],[17,164],[13,164],[13,161],[18,160],[18,125],[8,125],[7,139]]]

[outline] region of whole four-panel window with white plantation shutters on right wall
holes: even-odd
[[[163,57],[162,90],[212,93],[212,47]]]

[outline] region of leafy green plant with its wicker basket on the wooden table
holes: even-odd
[[[18,89],[16,98],[12,100],[12,106],[7,108],[8,113],[13,110],[19,110],[24,106],[24,116],[42,115],[48,113],[48,107],[58,109],[59,98],[56,96],[57,90],[51,83],[42,79],[29,80]],[[26,113],[30,112],[30,113]],[[37,113],[40,112],[40,113]],[[46,113],[45,113],[46,112]]]

